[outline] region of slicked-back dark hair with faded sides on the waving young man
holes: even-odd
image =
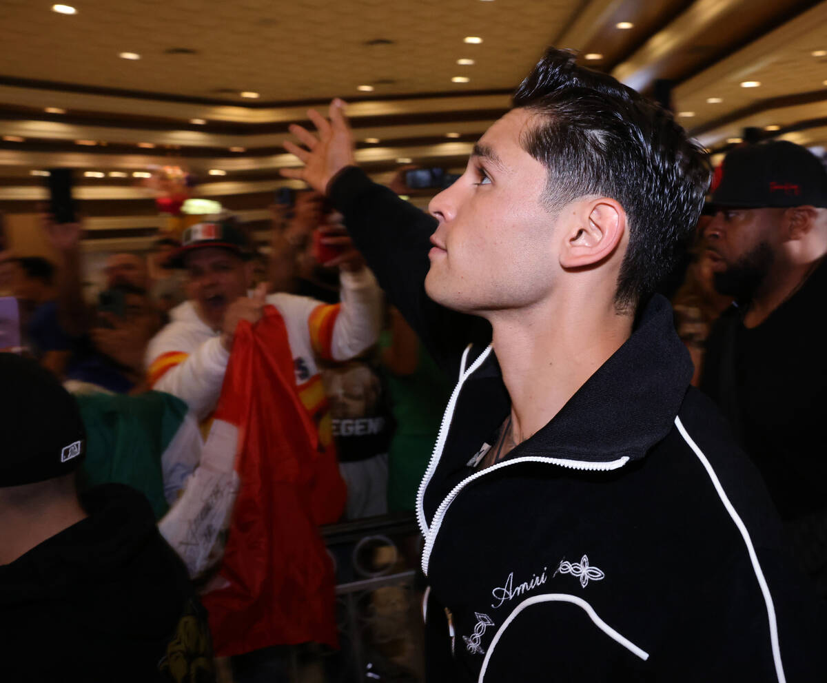
[[[547,50],[514,92],[515,108],[537,114],[520,142],[547,169],[550,211],[595,195],[624,208],[629,247],[615,305],[633,310],[669,274],[696,227],[710,163],[672,114],[575,60]]]

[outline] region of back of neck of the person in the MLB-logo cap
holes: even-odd
[[[87,513],[73,499],[61,499],[36,509],[0,502],[0,565],[17,560],[86,517]]]

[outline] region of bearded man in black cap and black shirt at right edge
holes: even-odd
[[[705,247],[736,299],[707,340],[700,388],[761,470],[794,552],[827,597],[827,171],[787,141],[724,158]]]

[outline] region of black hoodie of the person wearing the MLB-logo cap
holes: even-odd
[[[0,566],[4,680],[214,681],[206,612],[149,503],[120,484],[81,502],[88,518]]]

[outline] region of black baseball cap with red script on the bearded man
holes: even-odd
[[[827,208],[827,170],[810,150],[786,140],[737,147],[714,182],[713,208]]]

